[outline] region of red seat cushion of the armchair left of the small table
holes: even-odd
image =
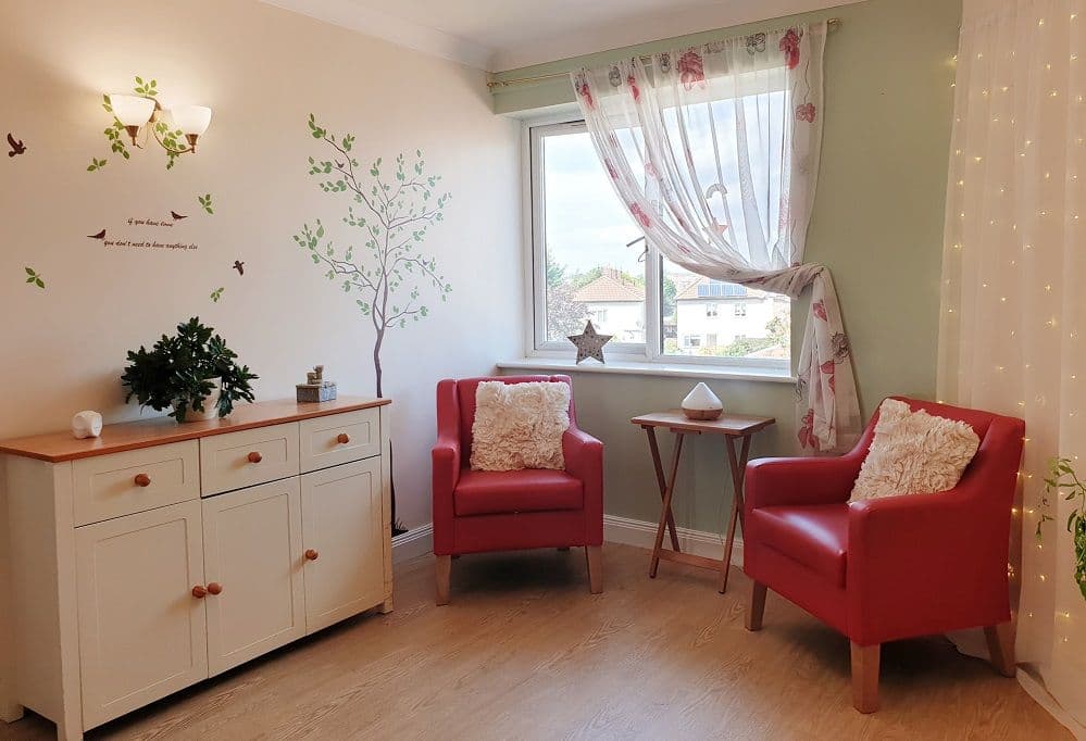
[[[458,517],[581,510],[584,485],[564,470],[469,470],[452,494]]]

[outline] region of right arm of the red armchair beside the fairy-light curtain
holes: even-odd
[[[997,418],[959,485],[849,505],[849,633],[864,645],[1010,619],[1021,420]]]

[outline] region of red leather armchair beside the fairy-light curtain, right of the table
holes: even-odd
[[[950,491],[848,503],[877,413],[841,457],[747,465],[744,572],[753,582],[747,628],[761,628],[770,588],[848,636],[852,701],[861,713],[878,708],[886,641],[984,627],[993,663],[1014,676],[1007,557],[1025,424],[901,401],[965,422],[981,438]]]

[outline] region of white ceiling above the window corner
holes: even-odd
[[[501,72],[861,0],[265,0]]]

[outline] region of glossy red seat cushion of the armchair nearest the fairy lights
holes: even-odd
[[[845,586],[848,504],[782,505],[748,513],[760,543],[802,564],[828,582]]]

